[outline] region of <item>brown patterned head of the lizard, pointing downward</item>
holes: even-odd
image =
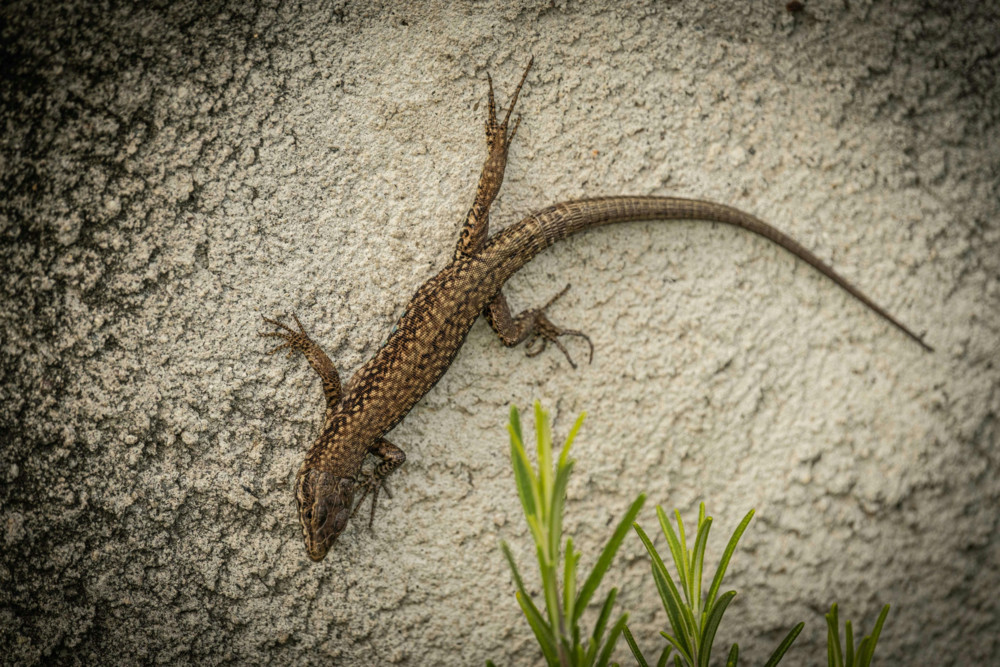
[[[354,502],[354,480],[318,468],[299,471],[295,499],[309,558],[321,561],[347,527]]]

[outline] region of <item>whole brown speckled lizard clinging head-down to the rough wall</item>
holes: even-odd
[[[578,336],[589,345],[593,359],[593,344],[586,334],[563,329],[546,316],[546,309],[565,294],[569,285],[542,307],[518,315],[511,314],[502,291],[507,280],[529,260],[577,232],[632,220],[700,220],[735,225],[788,250],[925,350],[932,350],[920,336],[797,241],[762,220],[723,204],[656,196],[580,199],[549,206],[490,236],[490,206],[500,191],[508,151],[521,123],[518,115],[510,125],[511,112],[533,60],[529,60],[502,121],[496,112],[493,80],[487,73],[487,157],[454,255],[446,267],[417,289],[382,347],[346,386],[341,385],[333,362],[308,336],[297,315],[293,313],[297,329],[279,319],[263,318],[275,329],[260,335],[282,341],[268,354],[287,350],[291,357],[301,352],[322,380],[326,397],[323,427],[306,454],[295,484],[306,551],[313,561],[326,556],[369,494],[371,528],[379,490],[385,489],[390,495],[386,477],[406,460],[403,450],[385,438],[386,433],[444,375],[480,314],[507,347],[531,338],[526,345],[529,356],[541,353],[553,343],[575,368],[559,338]],[[538,341],[540,344],[536,345]],[[377,463],[362,472],[369,455]],[[354,496],[359,492],[355,503]]]

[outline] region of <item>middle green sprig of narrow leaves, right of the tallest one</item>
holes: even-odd
[[[702,573],[705,564],[705,546],[708,543],[708,532],[712,526],[712,517],[705,516],[705,504],[702,503],[698,510],[698,527],[695,532],[694,548],[688,549],[687,538],[684,533],[684,523],[681,521],[680,512],[674,510],[677,517],[677,531],[667,520],[667,515],[663,508],[657,505],[656,515],[660,520],[660,527],[667,538],[667,545],[670,548],[670,556],[674,561],[677,570],[678,583],[675,585],[663,559],[656,551],[652,541],[645,531],[635,524],[635,532],[639,534],[639,539],[646,546],[649,557],[652,559],[653,579],[656,582],[656,590],[660,594],[663,608],[667,612],[670,628],[673,634],[661,632],[667,640],[667,645],[660,653],[656,664],[663,667],[670,659],[671,652],[674,654],[674,664],[689,665],[689,667],[708,667],[709,658],[712,654],[712,644],[715,641],[715,633],[722,621],[722,615],[726,607],[736,596],[736,591],[728,591],[719,595],[719,587],[722,585],[722,578],[729,566],[729,560],[736,550],[743,531],[746,530],[750,519],[753,518],[753,510],[747,513],[736,527],[733,536],[729,538],[729,544],[722,554],[719,567],[712,578],[712,584],[708,588],[708,593],[702,596]],[[678,590],[680,589],[680,590]],[[681,597],[683,591],[683,598]],[[778,645],[774,653],[768,659],[766,666],[778,664],[782,656],[795,641],[795,638],[802,631],[805,623],[799,623],[785,636],[785,639]],[[632,637],[632,633],[626,626],[623,634],[628,642],[632,655],[641,667],[647,667],[649,663],[642,655],[639,647]],[[727,667],[735,667],[739,661],[739,646],[733,644],[726,659]]]

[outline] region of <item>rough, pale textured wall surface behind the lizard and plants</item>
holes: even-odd
[[[641,491],[650,532],[704,500],[713,562],[756,508],[720,632],[745,664],[799,620],[785,664],[826,664],[834,601],[865,628],[893,605],[880,664],[1000,659],[995,3],[16,2],[0,25],[0,662],[538,664],[497,548],[533,572],[504,424],[535,398],[560,437],[590,415],[584,569]],[[298,313],[349,377],[451,255],[486,73],[504,104],[531,54],[495,226],[729,203],[937,351],[739,230],[580,235],[509,297],[572,283],[552,317],[593,363],[477,323],[391,434],[375,530],[314,564],[290,483],[319,381],[264,355],[260,317]],[[634,535],[611,583],[660,646]]]

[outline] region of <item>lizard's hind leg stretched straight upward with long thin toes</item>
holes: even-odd
[[[487,109],[488,115],[486,118],[486,146],[489,152],[486,156],[486,162],[483,164],[483,171],[479,176],[476,199],[472,203],[472,208],[469,209],[468,214],[465,216],[465,224],[462,225],[462,233],[459,235],[458,244],[455,246],[456,259],[462,257],[462,255],[471,255],[479,250],[489,234],[490,206],[493,204],[493,200],[496,199],[497,193],[500,192],[500,186],[503,184],[504,170],[507,168],[507,151],[510,149],[511,142],[514,141],[514,135],[517,134],[518,126],[521,124],[521,117],[518,116],[514,122],[513,129],[508,134],[507,127],[510,121],[510,114],[514,110],[514,105],[517,104],[517,98],[521,94],[521,86],[524,85],[524,80],[528,78],[528,70],[531,69],[532,62],[534,62],[534,58],[529,60],[528,66],[524,68],[524,74],[521,76],[521,81],[514,90],[514,96],[511,97],[510,106],[507,107],[507,113],[504,115],[502,123],[497,122],[496,102],[493,98],[493,79],[490,78],[488,73],[486,75],[490,87],[489,108]]]

